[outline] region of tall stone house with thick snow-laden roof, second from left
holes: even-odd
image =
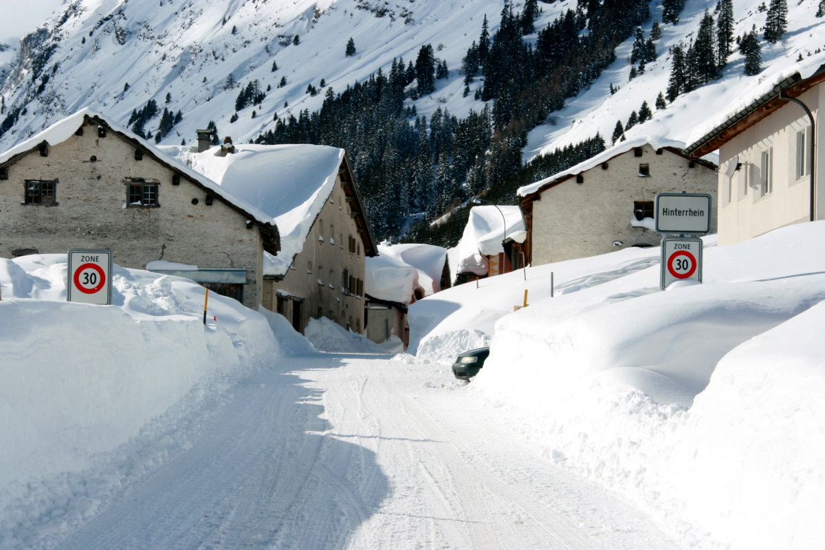
[[[378,254],[343,149],[234,145],[163,147],[274,220],[281,249],[263,257],[261,304],[304,331],[327,317],[365,331],[365,258]]]

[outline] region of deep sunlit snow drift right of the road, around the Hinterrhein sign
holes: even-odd
[[[822,221],[708,237],[704,283],[667,291],[658,248],[467,283],[411,306],[410,350],[492,341],[469,391],[686,543],[822,548],[823,243]]]

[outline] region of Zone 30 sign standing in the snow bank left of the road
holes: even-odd
[[[66,301],[82,304],[111,304],[111,250],[68,251]]]

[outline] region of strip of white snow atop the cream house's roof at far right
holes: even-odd
[[[710,136],[749,114],[755,106],[775,99],[780,89],[825,72],[823,60],[825,60],[823,55],[814,55],[798,63],[780,65],[780,70],[767,75],[756,86],[748,87],[745,93],[731,100],[725,110],[719,111],[713,117],[705,119],[704,123],[695,126],[688,138],[690,146],[687,148],[694,150],[701,147]]]

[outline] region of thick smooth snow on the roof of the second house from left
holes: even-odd
[[[234,153],[223,155],[219,146],[200,153],[189,147],[163,150],[275,221],[281,251],[266,254],[264,274],[284,275],[295,254],[304,249],[309,229],[332,193],[344,150],[325,145],[234,147]]]

